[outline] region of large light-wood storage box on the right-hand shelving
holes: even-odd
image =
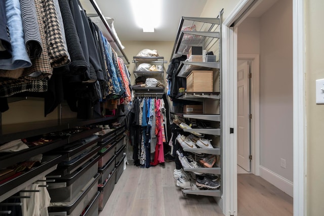
[[[191,71],[187,77],[187,92],[213,92],[213,71]]]

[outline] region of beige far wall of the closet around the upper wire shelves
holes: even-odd
[[[171,58],[171,53],[174,45],[174,41],[122,41],[125,46],[124,52],[130,61],[128,65],[128,70],[130,71],[132,84],[135,84],[135,76],[133,71],[135,69],[135,64],[133,63],[133,57],[136,56],[143,49],[156,50],[159,56],[163,56],[165,61],[168,63],[164,64],[165,72],[167,72],[169,60]],[[165,76],[166,78],[166,73]],[[166,84],[166,81],[165,81]]]

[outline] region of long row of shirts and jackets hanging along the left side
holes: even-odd
[[[1,112],[18,93],[44,98],[45,115],[66,100],[77,118],[133,100],[124,61],[78,0],[6,0],[0,12]]]

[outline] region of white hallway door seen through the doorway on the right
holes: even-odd
[[[237,165],[251,171],[249,64],[237,66]]]

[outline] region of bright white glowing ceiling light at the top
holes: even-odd
[[[154,32],[160,25],[161,0],[130,0],[136,23],[143,32]]]

